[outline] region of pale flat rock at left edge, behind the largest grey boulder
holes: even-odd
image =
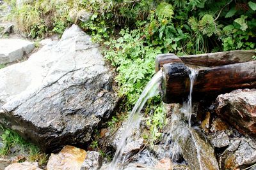
[[[0,64],[20,60],[34,48],[33,42],[24,39],[0,39]]]

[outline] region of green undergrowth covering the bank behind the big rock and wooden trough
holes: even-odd
[[[71,24],[101,43],[131,110],[154,74],[159,53],[189,55],[255,49],[256,3],[245,0],[9,0],[18,29],[32,38],[61,34]],[[150,100],[150,131],[163,127],[159,97]],[[147,114],[147,113],[146,113]],[[115,121],[114,121],[115,122]],[[118,122],[118,120],[116,120]],[[111,124],[111,123],[109,123]]]

